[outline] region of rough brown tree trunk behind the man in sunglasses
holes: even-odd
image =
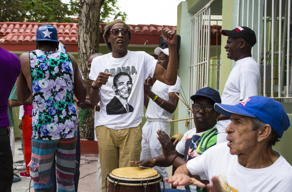
[[[87,82],[88,93],[91,89],[87,71],[87,60],[99,50],[100,38],[100,8],[104,0],[80,0],[78,26],[78,62],[84,81]],[[86,139],[92,135],[94,128],[94,112],[91,108],[77,108],[80,138]]]

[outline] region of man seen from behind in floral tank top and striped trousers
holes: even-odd
[[[75,155],[78,123],[73,93],[80,102],[86,87],[71,54],[58,51],[58,31],[41,25],[36,50],[20,55],[21,71],[16,95],[20,103],[32,97],[30,177],[34,191],[52,191],[50,179],[56,156],[57,191],[75,191]]]

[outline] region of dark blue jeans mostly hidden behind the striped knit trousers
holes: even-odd
[[[75,192],[77,192],[78,189],[78,182],[79,182],[79,167],[80,167],[80,133],[79,133],[79,128],[78,128],[78,133],[77,133],[77,143],[76,143],[76,156],[75,156],[75,161],[76,163],[76,170],[74,174],[74,187],[75,187]],[[51,169],[51,175],[50,179],[53,184],[52,192],[57,192],[57,181],[56,181],[56,158],[54,158],[52,169]]]

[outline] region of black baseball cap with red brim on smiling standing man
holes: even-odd
[[[246,40],[252,47],[256,44],[256,34],[248,27],[236,27],[230,30],[222,30],[221,34],[230,37],[242,37]]]

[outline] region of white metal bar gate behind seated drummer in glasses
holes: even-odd
[[[190,65],[189,65],[189,89],[188,96],[203,87],[212,86],[219,89],[220,58],[216,52],[215,58],[210,58],[210,29],[211,29],[211,3],[209,1],[204,8],[197,12],[191,19],[191,43],[190,43]],[[217,40],[218,41],[218,40]],[[217,42],[218,43],[218,42]],[[220,55],[219,55],[220,57]],[[212,60],[214,59],[214,61]],[[212,61],[212,63],[211,63]],[[214,63],[215,62],[215,63]],[[212,66],[211,66],[212,65]],[[212,67],[212,68],[211,68]],[[212,75],[210,75],[211,73]],[[213,79],[215,78],[215,80]],[[192,101],[189,99],[189,103]],[[192,111],[188,111],[188,117],[192,117]],[[193,128],[193,121],[189,121],[188,129]]]

